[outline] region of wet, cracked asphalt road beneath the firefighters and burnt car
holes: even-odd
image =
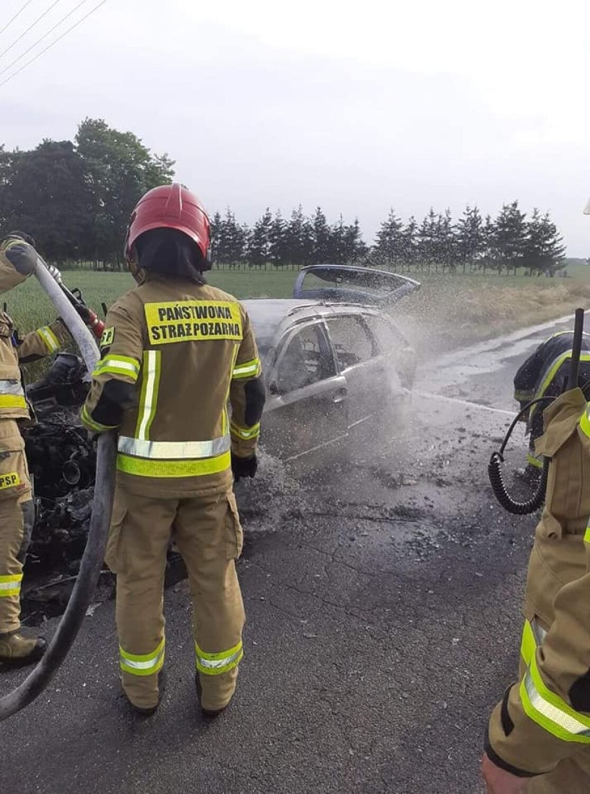
[[[431,362],[381,448],[350,464],[293,480],[262,461],[244,498],[246,657],[216,723],[197,710],[186,583],[167,592],[168,686],[148,720],[121,696],[103,603],[48,690],[0,725],[2,790],[479,791],[535,523],[496,505],[486,463],[515,368],[547,333]],[[524,453],[519,437],[510,461]],[[2,674],[0,694],[23,676]]]

